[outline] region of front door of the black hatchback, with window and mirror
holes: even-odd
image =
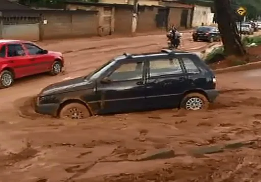
[[[116,64],[106,75],[108,83],[97,83],[101,95],[101,113],[143,110],[145,106],[145,69],[143,60]]]

